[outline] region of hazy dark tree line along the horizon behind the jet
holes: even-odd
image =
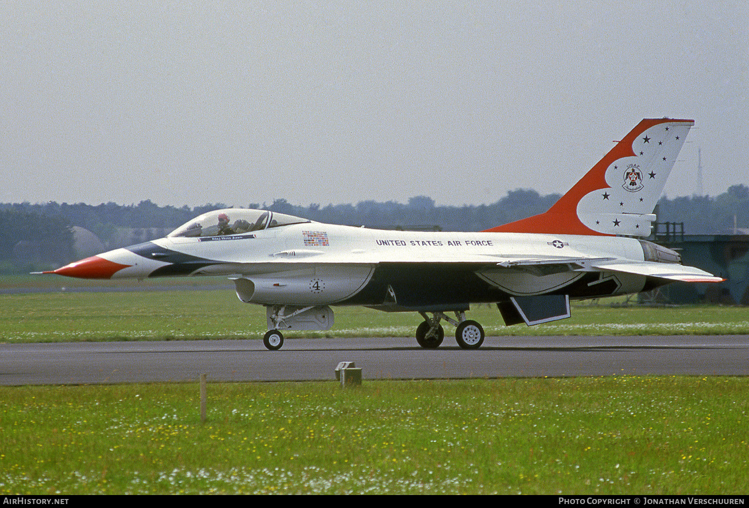
[[[294,205],[284,199],[248,203],[244,208],[268,209],[330,224],[387,229],[477,231],[548,210],[560,195],[539,195],[530,189],[510,191],[492,204],[445,206],[427,196],[408,203],[360,201],[357,204]],[[203,206],[159,206],[150,200],[118,203],[0,203],[0,260],[12,260],[24,248],[37,252],[35,262],[67,263],[76,258],[73,226],[84,227],[105,245],[122,228],[171,230],[204,212],[229,208],[225,203]],[[727,233],[749,227],[749,187],[739,184],[716,197],[661,198],[658,221],[683,222],[686,234]],[[19,242],[22,242],[19,247]],[[23,243],[25,242],[25,243]],[[15,249],[15,254],[14,254]],[[20,249],[20,250],[19,250]],[[34,250],[37,249],[37,250]]]

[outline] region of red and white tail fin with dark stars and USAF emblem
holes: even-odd
[[[694,120],[642,120],[548,212],[487,231],[649,236],[666,179]]]

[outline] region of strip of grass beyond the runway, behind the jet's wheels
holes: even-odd
[[[572,317],[528,327],[507,327],[491,305],[467,314],[497,335],[748,334],[746,307],[614,306],[583,302]],[[221,290],[164,290],[109,293],[1,294],[0,341],[192,340],[261,338],[265,309],[241,303],[229,284]],[[384,313],[365,307],[335,307],[329,331],[288,331],[293,337],[413,337],[417,313]],[[449,328],[449,327],[446,327]],[[452,333],[447,331],[446,333]]]

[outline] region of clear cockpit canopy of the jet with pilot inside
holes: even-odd
[[[167,236],[205,237],[224,236],[250,231],[264,230],[267,227],[280,227],[288,224],[309,222],[306,218],[294,217],[285,213],[269,212],[267,210],[253,210],[243,208],[228,208],[213,210],[193,218],[192,221],[181,225]]]

